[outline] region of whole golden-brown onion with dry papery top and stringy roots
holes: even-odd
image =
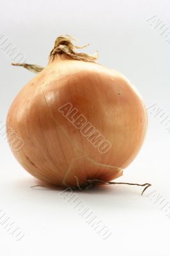
[[[111,180],[123,175],[143,144],[146,108],[125,76],[98,64],[97,53],[75,52],[82,47],[73,39],[56,39],[47,67],[12,64],[37,73],[8,113],[6,125],[24,141],[12,152],[27,172],[49,184],[122,184]]]

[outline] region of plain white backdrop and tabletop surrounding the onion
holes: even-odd
[[[170,45],[146,20],[154,15],[170,26],[170,1],[0,1],[0,30],[19,47],[27,63],[45,66],[58,35],[70,34],[86,52],[100,52],[100,63],[122,72],[143,95],[170,116]],[[169,35],[170,38],[170,35]],[[10,66],[0,51],[0,121],[15,95],[34,74]],[[170,124],[169,124],[170,126]],[[170,202],[170,133],[149,114],[144,146],[116,181],[151,182]],[[140,187],[102,186],[79,192],[112,235],[95,233],[59,191],[35,188],[37,180],[20,167],[0,136],[0,209],[25,233],[20,241],[0,225],[0,255],[155,255],[169,256],[170,220]]]

